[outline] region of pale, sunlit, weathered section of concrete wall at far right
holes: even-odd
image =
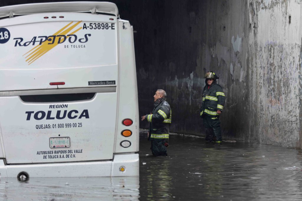
[[[249,5],[248,112],[261,143],[301,147],[301,17],[301,1]]]

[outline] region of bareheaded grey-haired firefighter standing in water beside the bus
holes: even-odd
[[[154,108],[150,115],[142,116],[150,122],[148,140],[151,141],[151,151],[154,156],[167,156],[169,141],[169,126],[171,124],[171,108],[166,101],[164,90],[157,90],[154,97]]]

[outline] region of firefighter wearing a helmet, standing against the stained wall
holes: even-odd
[[[225,95],[222,87],[217,84],[217,75],[213,71],[208,71],[204,90],[202,91],[202,106],[200,109],[200,117],[203,119],[206,129],[206,140],[221,143],[221,129],[219,116],[223,110]]]

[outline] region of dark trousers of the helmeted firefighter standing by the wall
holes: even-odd
[[[202,115],[204,127],[206,128],[206,138],[207,141],[221,141],[221,129],[219,116],[214,118],[208,115]]]

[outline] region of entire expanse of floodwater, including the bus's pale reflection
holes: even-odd
[[[0,179],[0,200],[301,200],[302,150],[170,135],[168,157],[140,133],[139,177]]]

